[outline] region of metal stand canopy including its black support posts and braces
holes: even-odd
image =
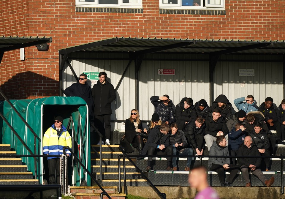
[[[77,74],[73,70],[68,57],[74,52],[94,52],[94,53],[125,53],[129,54],[129,61],[134,61],[135,65],[135,88],[136,88],[136,105],[139,107],[137,89],[138,85],[138,71],[143,61],[145,54],[150,53],[200,53],[209,56],[209,74],[210,74],[210,103],[213,102],[213,72],[217,61],[221,55],[226,54],[279,54],[283,56],[283,64],[285,68],[285,40],[202,40],[202,39],[157,39],[157,38],[124,38],[114,37],[105,40],[94,41],[82,45],[76,45],[59,50],[59,66],[60,74],[59,79],[61,82],[61,88],[63,87],[62,72],[65,63],[67,62],[73,75],[77,78]],[[75,58],[76,59],[76,58]],[[83,58],[84,59],[84,58]],[[96,58],[95,58],[96,59]],[[181,60],[182,61],[182,60]],[[118,86],[123,79],[127,65],[122,78],[120,79]],[[285,82],[285,70],[284,82]],[[117,86],[117,87],[118,87]],[[63,89],[61,89],[61,95],[63,95]],[[284,91],[285,93],[285,91]]]

